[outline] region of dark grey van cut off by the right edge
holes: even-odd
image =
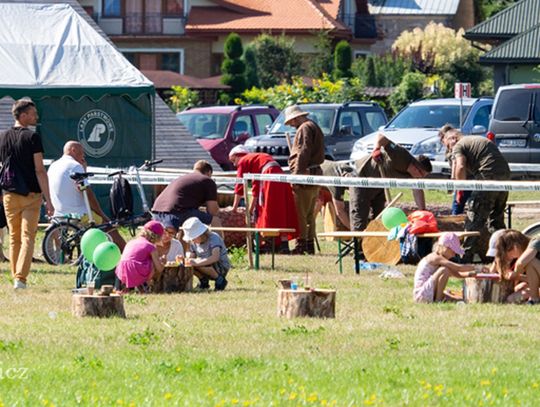
[[[540,163],[540,84],[501,86],[487,137],[509,162]]]

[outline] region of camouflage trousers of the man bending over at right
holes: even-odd
[[[491,233],[504,229],[504,210],[508,199],[507,191],[473,191],[467,201],[465,230],[480,232],[480,236],[470,236],[463,241],[465,254],[463,263],[470,263],[475,254],[485,260]]]

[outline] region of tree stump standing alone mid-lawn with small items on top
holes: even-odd
[[[279,290],[278,316],[335,318],[335,290]]]

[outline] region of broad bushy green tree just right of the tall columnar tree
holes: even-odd
[[[302,60],[294,50],[294,41],[284,35],[261,34],[253,41],[260,86],[269,88],[290,82],[302,74]]]

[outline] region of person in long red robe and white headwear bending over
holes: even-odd
[[[236,146],[229,153],[229,159],[237,169],[238,178],[243,174],[283,174],[283,170],[271,155],[250,153],[244,146]],[[234,188],[233,210],[238,208],[244,195],[244,186]],[[294,233],[282,234],[276,238],[280,253],[289,253],[289,240],[298,237],[298,217],[290,184],[284,182],[253,181],[249,212],[258,228],[291,228]]]

